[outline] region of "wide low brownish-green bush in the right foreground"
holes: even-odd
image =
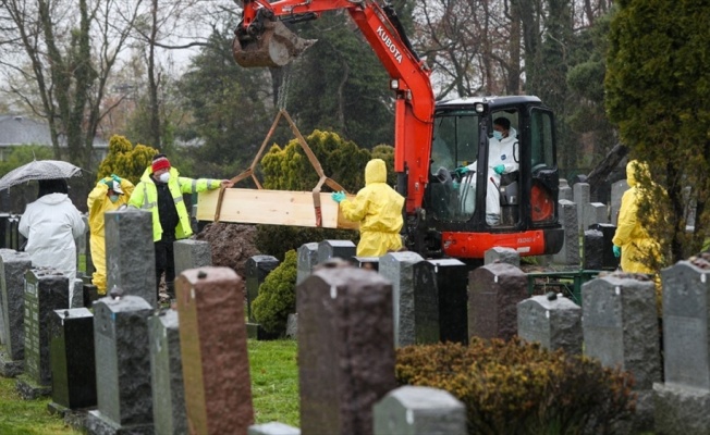
[[[396,378],[458,398],[469,434],[611,434],[635,408],[631,374],[517,338],[400,348]]]

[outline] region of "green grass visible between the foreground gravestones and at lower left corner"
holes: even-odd
[[[278,421],[298,427],[298,368],[295,340],[248,340],[252,398],[257,424]],[[0,376],[0,434],[79,434],[49,413],[49,398],[23,400],[15,380]]]

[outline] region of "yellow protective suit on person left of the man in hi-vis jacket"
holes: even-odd
[[[133,183],[121,178],[121,189],[123,195],[119,195],[119,200],[111,202],[109,199],[109,187],[101,183],[102,181],[111,182],[111,177],[106,177],[96,184],[94,190],[89,192],[86,204],[89,211],[89,228],[91,237],[91,261],[94,262],[94,275],[91,281],[96,286],[99,295],[106,295],[106,238],[103,235],[103,213],[107,211],[118,210],[119,207],[128,202],[133,192]]]

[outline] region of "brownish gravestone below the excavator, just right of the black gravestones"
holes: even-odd
[[[511,264],[486,264],[468,277],[468,336],[509,340],[517,333],[517,303],[527,276]]]

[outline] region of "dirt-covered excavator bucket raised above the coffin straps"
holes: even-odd
[[[257,36],[234,38],[232,53],[241,66],[283,66],[317,39],[303,39],[280,21],[266,21]]]

